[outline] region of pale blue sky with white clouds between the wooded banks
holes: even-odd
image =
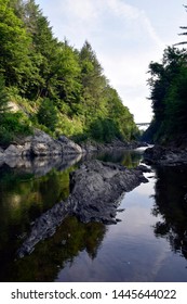
[[[185,1],[185,0],[184,0]],[[81,49],[88,40],[104,74],[136,123],[151,121],[148,66],[183,40],[183,0],[36,0],[59,41]]]

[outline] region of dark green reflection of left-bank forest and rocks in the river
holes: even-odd
[[[92,155],[91,157],[95,157]],[[141,155],[120,152],[96,155],[104,161],[135,166]],[[69,173],[76,169],[76,159],[12,159],[0,167],[0,280],[53,281],[66,261],[85,251],[91,259],[106,233],[98,223],[81,224],[68,217],[53,238],[36,248],[30,256],[15,262],[15,253],[30,230],[32,223],[55,203],[69,195]],[[30,269],[30,270],[29,270]]]

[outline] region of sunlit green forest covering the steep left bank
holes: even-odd
[[[0,0],[0,143],[34,128],[76,141],[138,134],[88,41],[81,50],[58,41],[35,0]]]

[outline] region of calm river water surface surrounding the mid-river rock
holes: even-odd
[[[142,150],[103,154],[134,167]],[[187,281],[187,167],[152,167],[121,198],[117,225],[64,220],[56,233],[17,258],[16,251],[43,212],[69,194],[80,160],[43,160],[0,167],[0,281]],[[12,168],[11,168],[12,167]],[[13,168],[14,167],[14,168]]]

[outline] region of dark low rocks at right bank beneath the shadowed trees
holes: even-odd
[[[147,164],[165,166],[187,164],[187,149],[155,145],[145,150],[144,161]]]

